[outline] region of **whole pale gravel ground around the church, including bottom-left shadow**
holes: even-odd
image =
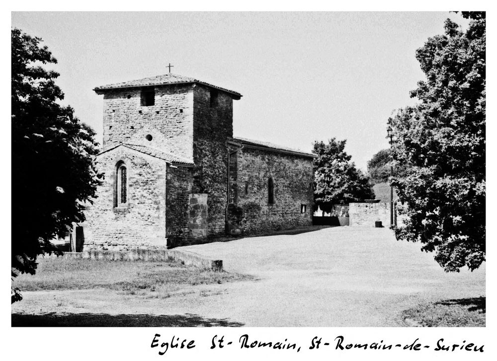
[[[485,264],[445,273],[386,228],[333,227],[182,247],[255,281],[191,286],[166,299],[98,289],[23,292],[12,320],[91,326],[404,326],[421,302],[485,296]],[[15,323],[14,322],[14,323]]]

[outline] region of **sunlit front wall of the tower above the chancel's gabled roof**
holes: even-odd
[[[156,86],[152,106],[141,105],[140,88],[105,91],[103,150],[119,143],[143,144],[191,159],[192,142],[192,84]]]

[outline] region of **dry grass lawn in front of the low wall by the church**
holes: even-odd
[[[166,298],[186,286],[251,279],[237,273],[185,267],[179,262],[107,261],[69,258],[39,259],[34,276],[19,275],[22,291],[52,289],[112,289],[126,294]]]

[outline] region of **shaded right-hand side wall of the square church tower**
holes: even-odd
[[[211,89],[194,87],[193,159],[197,166],[192,193],[207,193],[208,237],[224,235],[227,204],[228,137],[233,137],[233,99],[219,91],[211,106]]]

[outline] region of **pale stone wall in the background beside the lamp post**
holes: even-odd
[[[384,227],[390,226],[390,208],[388,203],[349,203],[348,215],[350,226],[374,227],[381,220]]]

